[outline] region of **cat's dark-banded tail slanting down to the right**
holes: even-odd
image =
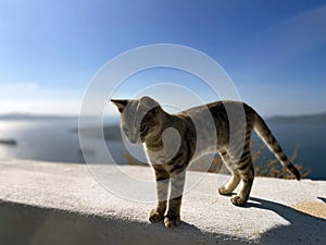
[[[292,162],[287,158],[285,152],[283,151],[281,147],[279,146],[278,142],[272,134],[271,130],[264,122],[264,120],[255,113],[254,120],[254,130],[258,135],[263,139],[269,150],[275,155],[275,157],[279,160],[279,162],[287,168],[289,172],[294,174],[296,179],[300,181],[300,173],[298,169],[292,164]]]

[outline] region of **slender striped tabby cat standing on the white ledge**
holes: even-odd
[[[170,114],[162,109],[158,101],[148,96],[139,100],[112,99],[111,101],[121,112],[122,130],[128,140],[130,143],[145,143],[147,157],[155,172],[158,206],[149,213],[150,222],[164,220],[166,228],[180,223],[185,169],[191,160],[208,152],[218,152],[231,172],[230,180],[218,187],[218,193],[222,195],[233,194],[241,181],[242,184],[238,194],[233,195],[230,200],[238,206],[246,204],[254,177],[250,152],[250,138],[253,128],[280,163],[297,180],[300,180],[299,171],[286,157],[264,120],[243,102],[216,101]],[[209,111],[213,119],[215,127],[213,131],[209,126],[208,115],[204,114],[204,111]],[[235,131],[233,135],[236,136],[230,144],[229,117],[230,112],[237,111],[242,111],[244,120],[234,120],[236,123],[233,126],[233,131]],[[195,125],[193,119],[196,119],[197,125]],[[240,122],[242,126],[239,123],[237,125],[237,122]],[[198,127],[204,133],[197,135],[196,130]],[[237,138],[237,135],[241,135],[238,128],[243,131],[242,139],[241,137]],[[198,137],[204,139],[200,149],[197,148]],[[217,138],[217,140],[214,142],[212,138]],[[236,157],[237,148],[239,148],[237,146],[241,148],[239,157]],[[167,198],[168,187],[170,197]],[[168,209],[165,215],[167,200]]]

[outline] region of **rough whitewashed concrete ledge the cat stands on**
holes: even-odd
[[[198,174],[188,172],[187,184]],[[227,177],[206,174],[185,196],[184,223],[166,230],[147,221],[152,204],[109,193],[87,166],[0,161],[0,244],[326,244],[325,181],[256,177],[239,208],[216,194]]]

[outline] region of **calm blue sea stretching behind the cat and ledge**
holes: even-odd
[[[309,177],[326,180],[326,126],[302,123],[268,123],[274,135],[288,156],[299,144],[296,163],[312,170]],[[60,162],[85,162],[79,149],[76,120],[52,121],[0,121],[0,139],[13,138],[16,146],[0,144],[0,159],[34,159]],[[259,139],[254,139],[259,140]],[[103,162],[103,152],[97,151],[100,140],[89,137],[87,154],[93,162]],[[122,143],[110,142],[110,149],[117,162],[126,163]],[[136,150],[139,150],[136,149]],[[266,150],[267,152],[267,150]],[[272,154],[267,154],[272,158]]]

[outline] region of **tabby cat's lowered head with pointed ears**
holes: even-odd
[[[158,101],[145,96],[141,99],[111,99],[121,113],[121,126],[130,143],[143,143],[159,134],[164,111]]]

